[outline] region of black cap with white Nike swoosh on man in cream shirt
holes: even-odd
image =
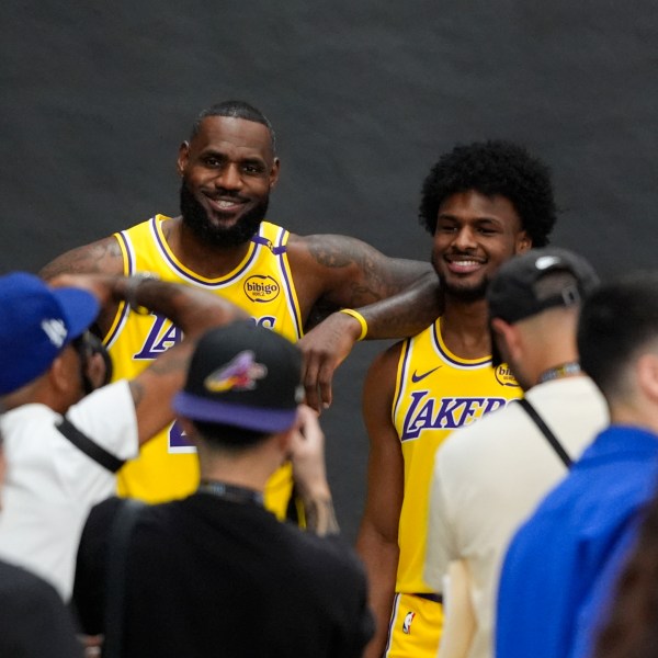
[[[569,272],[576,282],[551,296],[537,294],[535,284],[548,272]],[[580,304],[599,285],[585,258],[557,247],[531,249],[503,263],[487,290],[489,317],[514,324],[555,306]]]

